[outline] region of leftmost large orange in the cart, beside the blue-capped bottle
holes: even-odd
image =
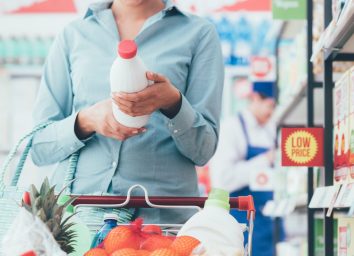
[[[110,254],[119,249],[140,247],[139,236],[128,226],[119,226],[112,229],[104,240],[104,248]]]

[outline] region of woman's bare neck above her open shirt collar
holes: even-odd
[[[140,2],[137,0],[137,3],[129,2],[129,0],[114,0],[112,12],[117,21],[146,20],[165,7],[162,0],[143,0]]]

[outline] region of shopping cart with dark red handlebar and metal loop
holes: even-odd
[[[134,189],[140,188],[144,196],[131,196]],[[204,207],[207,197],[161,197],[150,196],[145,187],[134,185],[129,188],[127,196],[78,196],[73,202],[75,212],[81,207],[98,208],[160,208],[160,209],[195,209],[200,211]],[[231,209],[247,211],[247,224],[241,224],[243,232],[248,232],[248,244],[245,245],[245,256],[252,255],[252,236],[255,218],[255,208],[252,196],[230,198]],[[121,225],[121,224],[120,224]],[[128,225],[128,224],[127,224]],[[157,224],[166,235],[176,234],[183,224]],[[99,230],[99,226],[90,229]]]

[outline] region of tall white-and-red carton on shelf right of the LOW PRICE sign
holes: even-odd
[[[349,76],[345,73],[334,88],[334,183],[343,184],[349,171]]]

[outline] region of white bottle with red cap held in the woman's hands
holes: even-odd
[[[137,55],[138,47],[133,40],[123,40],[118,45],[118,56],[112,64],[110,73],[111,92],[133,93],[149,85],[146,78],[147,68]],[[112,103],[113,115],[122,125],[140,128],[147,124],[149,116],[132,117],[123,113]]]

